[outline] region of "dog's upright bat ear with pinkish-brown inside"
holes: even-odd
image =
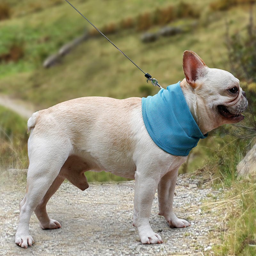
[[[185,51],[183,53],[183,71],[190,86],[196,87],[195,81],[203,76],[207,66],[196,52]]]

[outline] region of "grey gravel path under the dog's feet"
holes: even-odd
[[[169,228],[158,215],[155,196],[150,223],[164,240],[160,245],[141,244],[132,227],[134,181],[89,184],[85,191],[64,182],[47,204],[49,216],[62,228],[42,230],[33,214],[30,234],[35,244],[27,250],[14,243],[26,185],[1,185],[0,255],[213,255],[212,246],[223,231],[225,214],[217,207],[222,193],[210,186],[198,188],[198,181],[179,175],[175,188],[174,211],[191,222],[188,228]]]

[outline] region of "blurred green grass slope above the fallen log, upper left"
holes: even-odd
[[[62,44],[84,33],[85,30],[91,30],[91,25],[64,0],[57,5],[52,5],[51,2],[54,1],[48,0],[43,3],[42,1],[26,1],[26,4],[17,0],[11,1],[12,18],[0,23],[0,54],[7,52],[13,42],[25,42],[25,62],[32,62],[35,67],[38,67],[42,59],[57,51]],[[74,0],[72,3],[85,15],[90,14],[88,18],[99,28],[168,4],[167,1],[152,0],[147,1],[147,4],[143,1],[126,3],[114,0],[108,2]],[[41,6],[41,8],[33,12],[31,6]],[[45,19],[47,22],[44,22]],[[4,71],[4,73],[1,72],[2,76],[8,72]]]

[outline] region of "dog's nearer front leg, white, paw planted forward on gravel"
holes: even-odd
[[[133,226],[138,229],[142,244],[161,244],[161,236],[156,234],[149,225],[149,216],[158,180],[145,175],[145,172],[135,174],[134,215]]]

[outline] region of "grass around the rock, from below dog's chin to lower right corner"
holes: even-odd
[[[226,135],[223,138],[214,138],[214,143],[216,149],[212,148],[210,161],[200,170],[200,174],[205,176],[203,183],[211,183],[223,193],[222,200],[213,206],[220,209],[224,217],[220,244],[213,247],[213,253],[216,256],[254,256],[256,176],[242,179],[236,173],[236,165],[250,149],[253,141]]]

